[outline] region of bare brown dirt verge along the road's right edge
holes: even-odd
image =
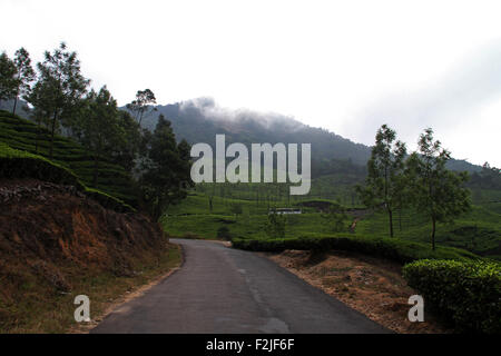
[[[396,333],[452,333],[426,307],[423,323],[409,320],[412,306],[407,300],[418,293],[406,285],[397,264],[342,251],[285,250],[262,255]]]

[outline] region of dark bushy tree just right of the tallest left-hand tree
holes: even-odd
[[[118,122],[117,101],[106,86],[99,92],[91,90],[88,93],[75,131],[79,141],[94,156],[92,185],[97,188],[99,159],[111,156],[124,135]]]

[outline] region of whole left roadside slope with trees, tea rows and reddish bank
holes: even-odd
[[[79,332],[77,295],[95,325],[180,264],[157,220],[193,186],[189,145],[163,117],[140,127],[151,90],[121,110],[89,85],[65,43],[36,69],[0,55],[0,333]]]

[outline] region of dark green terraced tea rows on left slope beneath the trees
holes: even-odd
[[[38,129],[32,121],[0,111],[0,142],[18,150],[49,157],[50,132],[45,128]],[[100,157],[97,187],[92,187],[94,157],[69,138],[56,136],[53,144],[51,161],[70,169],[85,186],[137,206],[134,182],[122,167]]]

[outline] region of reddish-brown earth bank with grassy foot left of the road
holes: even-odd
[[[91,318],[180,260],[158,224],[105,209],[73,187],[0,181],[0,333],[62,333],[73,298]]]

